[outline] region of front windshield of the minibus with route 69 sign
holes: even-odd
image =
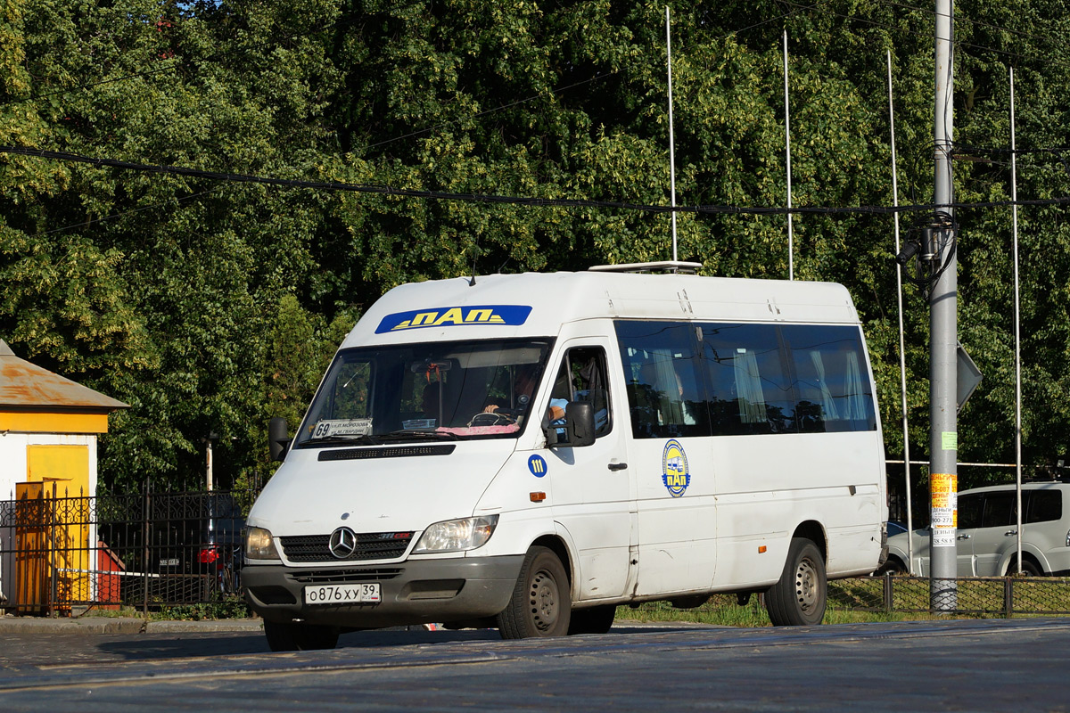
[[[294,446],[516,438],[551,341],[493,340],[339,352]]]

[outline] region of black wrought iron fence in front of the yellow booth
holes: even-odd
[[[199,604],[241,590],[244,513],[256,494],[159,492],[71,496],[26,483],[0,501],[0,608]]]

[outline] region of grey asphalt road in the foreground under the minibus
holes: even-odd
[[[366,632],[2,633],[0,711],[1067,711],[1070,620]]]

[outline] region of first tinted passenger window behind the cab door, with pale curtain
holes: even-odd
[[[636,438],[709,435],[694,363],[694,328],[673,322],[615,323]]]

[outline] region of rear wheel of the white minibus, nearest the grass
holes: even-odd
[[[825,617],[828,583],[821,551],[806,538],[793,538],[780,582],[765,592],[774,626],[812,626]]]

